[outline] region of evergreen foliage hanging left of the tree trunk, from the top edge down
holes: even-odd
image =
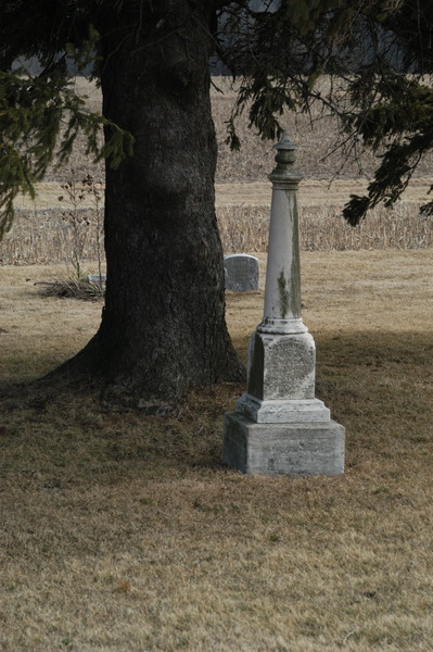
[[[85,20],[86,4],[92,3],[11,0],[0,7],[0,239],[12,225],[15,197],[35,196],[35,183],[54,159],[59,165],[67,161],[79,131],[87,136],[87,153],[114,167],[132,151],[132,136],[89,111],[67,74],[67,60],[78,72],[97,64],[99,34]],[[12,70],[31,57],[40,74],[28,74],[24,65]]]

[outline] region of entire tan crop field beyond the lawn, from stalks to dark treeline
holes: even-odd
[[[212,96],[219,148],[216,204],[224,249],[226,253],[264,252],[270,204],[267,175],[275,165],[272,143],[260,140],[250,130],[243,115],[238,125],[242,149],[230,151],[225,142],[226,121],[235,95],[227,80],[215,79],[215,83],[225,91],[222,95],[214,89]],[[88,96],[89,105],[100,108],[100,91],[85,79],[77,78],[76,84]],[[365,191],[378,160],[368,151],[359,150],[356,158],[347,158],[341,150],[332,152],[338,128],[335,120],[317,112],[314,120],[314,128],[306,115],[288,114],[283,120],[292,139],[300,145],[298,167],[305,179],[300,191],[302,248],[306,251],[344,251],[431,247],[433,222],[419,214],[419,206],[429,200],[432,158],[428,156],[420,165],[402,202],[393,210],[378,208],[359,227],[352,228],[341,217],[342,206],[351,193]],[[67,217],[71,202],[61,184],[74,179],[79,185],[88,174],[94,181],[103,181],[102,164],[92,164],[85,152],[85,140],[79,138],[69,165],[50,168],[44,183],[39,185],[36,202],[28,198],[17,201],[13,229],[0,242],[0,263],[67,261],[77,229]],[[58,199],[60,196],[63,196],[62,202]],[[78,201],[75,213],[81,221],[78,237],[82,240],[82,258],[94,260],[98,213],[93,198],[86,195]]]

